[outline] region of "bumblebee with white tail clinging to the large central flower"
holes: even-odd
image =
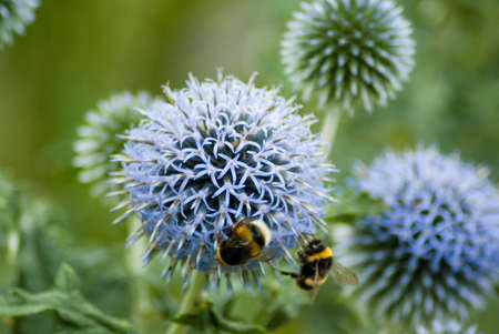
[[[225,230],[228,239],[216,249],[216,259],[222,265],[235,266],[248,261],[269,261],[276,254],[266,246],[272,240],[267,224],[259,220],[245,219]]]

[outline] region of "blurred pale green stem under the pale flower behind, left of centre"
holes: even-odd
[[[134,217],[128,220],[128,230],[131,234],[136,230],[136,220]],[[130,246],[128,252],[128,267],[132,283],[130,284],[131,295],[133,300],[132,321],[139,324],[140,328],[143,328],[145,322],[143,315],[147,314],[151,307],[151,296],[147,284],[141,279],[141,272],[143,271],[142,254],[144,252],[144,243],[139,240]]]

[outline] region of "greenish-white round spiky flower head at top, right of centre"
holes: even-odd
[[[410,23],[391,0],[314,0],[287,24],[283,63],[296,90],[350,113],[385,105],[414,67]]]

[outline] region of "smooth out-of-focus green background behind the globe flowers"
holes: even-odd
[[[355,160],[369,161],[388,145],[421,141],[488,165],[498,180],[499,1],[399,2],[417,41],[411,79],[389,107],[342,119],[334,162],[345,176]],[[112,92],[161,94],[166,82],[182,88],[189,72],[213,78],[218,67],[243,80],[256,71],[258,85],[282,85],[282,93],[291,97],[279,41],[298,3],[41,0],[26,36],[0,50],[0,169],[28,192],[50,199],[71,237],[121,254],[125,227],[110,224],[113,215],[89,196],[71,165],[72,142],[84,113]],[[320,118],[314,103],[304,111]],[[90,271],[89,259],[80,267]],[[338,293],[332,289],[326,286],[318,303],[282,332],[292,333],[293,327],[305,333],[315,326],[314,333],[333,333],[330,313],[345,310],[329,303]],[[110,313],[126,315],[126,307],[113,301],[119,291],[86,292]],[[493,307],[499,307],[497,300]],[[487,312],[480,323],[489,333],[498,324]]]

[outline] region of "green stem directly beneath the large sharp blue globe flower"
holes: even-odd
[[[201,292],[203,290],[206,275],[201,271],[194,271],[191,276],[191,282],[189,283],[187,292],[184,294],[182,303],[176,312],[175,317],[182,314],[191,313],[195,310],[196,304],[201,300]],[[166,334],[184,334],[187,331],[187,326],[183,324],[173,323]]]

